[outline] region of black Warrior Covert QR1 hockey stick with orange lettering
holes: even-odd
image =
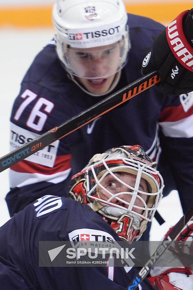
[[[61,125],[54,127],[32,141],[20,146],[0,158],[0,172],[13,166],[19,161],[45,148],[52,142],[72,133],[92,120],[123,104],[132,97],[147,90],[160,81],[159,73],[154,71],[129,84],[118,92],[106,97],[101,102],[70,118]]]

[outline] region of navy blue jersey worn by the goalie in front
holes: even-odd
[[[138,268],[39,267],[39,241],[72,241],[85,232],[96,241],[119,240],[87,204],[47,195],[26,206],[0,228],[1,290],[124,290]],[[139,286],[151,289],[146,279]]]

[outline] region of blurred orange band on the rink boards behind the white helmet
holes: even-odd
[[[19,2],[15,0],[14,3]],[[6,2],[0,6],[0,26],[16,27],[51,27],[52,26],[52,3],[7,6]],[[150,17],[167,25],[180,12],[191,9],[192,1],[124,1],[128,12]],[[54,1],[53,1],[54,3]]]

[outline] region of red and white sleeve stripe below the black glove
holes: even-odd
[[[192,124],[193,106],[187,112],[182,105],[165,108],[159,118],[159,125],[167,137],[193,137]]]

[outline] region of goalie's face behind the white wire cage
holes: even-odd
[[[138,192],[135,197],[134,191],[125,185],[128,184],[132,187],[135,187],[136,175],[127,172],[114,172],[114,175],[118,177],[120,181],[113,177],[111,174],[106,175],[100,182],[100,184],[105,189],[99,187],[99,197],[102,200],[123,206],[126,209],[130,203],[133,203],[134,206],[140,206],[144,208],[144,203],[146,202],[148,196]],[[110,191],[112,195],[110,195],[110,193],[108,193],[106,190]],[[145,179],[141,178],[138,190],[148,192],[148,185]],[[133,207],[132,210],[139,214],[143,213],[142,209],[137,209],[135,207]]]

